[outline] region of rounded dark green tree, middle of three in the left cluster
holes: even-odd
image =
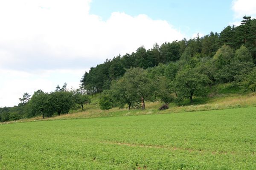
[[[49,103],[53,111],[58,113],[58,116],[63,113],[68,113],[74,105],[73,93],[69,91],[55,91],[49,96]]]

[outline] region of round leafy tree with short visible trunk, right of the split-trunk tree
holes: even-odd
[[[175,88],[177,96],[181,99],[189,98],[192,102],[192,96],[203,96],[206,94],[204,86],[207,85],[209,79],[204,74],[199,74],[198,70],[186,68],[179,71],[175,77]]]

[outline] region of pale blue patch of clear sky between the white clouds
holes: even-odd
[[[92,0],[90,14],[108,20],[114,11],[166,20],[186,37],[220,32],[233,21],[232,0]]]

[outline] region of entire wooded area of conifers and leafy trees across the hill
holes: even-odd
[[[20,104],[0,108],[0,122],[65,114],[82,108],[90,97],[101,94],[102,110],[112,107],[146,109],[146,101],[160,100],[168,108],[194,96],[205,96],[213,85],[232,83],[244,91],[256,91],[256,19],[244,16],[240,26],[227,26],[220,33],[144,46],[91,67],[79,89],[65,83],[51,93],[25,93]]]

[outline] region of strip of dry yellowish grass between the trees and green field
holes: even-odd
[[[210,111],[221,110],[227,108],[250,108],[256,106],[256,94],[244,92],[232,84],[215,85],[212,87],[212,93],[207,97],[196,97],[193,103],[185,100],[182,103],[172,103],[169,109],[160,111],[159,108],[163,102],[145,102],[146,109],[141,108],[111,108],[108,111],[102,111],[99,106],[100,94],[90,96],[91,103],[84,106],[84,111],[81,108],[74,108],[68,114],[54,116],[42,119],[42,116],[37,116],[29,119],[19,119],[15,121],[3,122],[0,124],[32,122],[43,120],[65,120],[65,119],[84,119],[96,117],[115,117],[115,116],[133,116],[133,115],[148,115],[148,114],[163,114],[163,113],[181,113],[192,111]]]

